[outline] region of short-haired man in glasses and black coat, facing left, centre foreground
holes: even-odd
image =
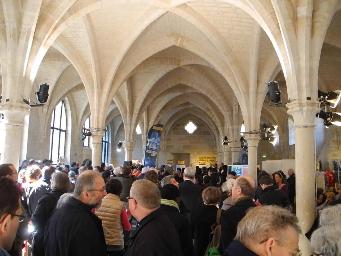
[[[160,209],[160,190],[155,183],[146,179],[135,181],[128,202],[138,227],[124,245],[124,256],[182,255],[178,233]]]

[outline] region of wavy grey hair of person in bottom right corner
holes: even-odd
[[[320,212],[320,226],[312,233],[310,248],[317,255],[341,256],[341,204]]]

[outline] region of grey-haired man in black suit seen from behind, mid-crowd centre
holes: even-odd
[[[190,212],[204,205],[201,196],[204,189],[202,186],[193,183],[194,176],[194,168],[191,166],[186,167],[182,173],[183,182],[179,184],[180,199]]]

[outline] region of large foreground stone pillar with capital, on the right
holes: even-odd
[[[294,101],[286,104],[288,114],[294,118],[295,129],[295,173],[296,173],[296,216],[302,233],[305,234],[315,219],[315,156],[314,118],[320,111],[318,101]],[[285,173],[287,170],[283,170]],[[299,248],[302,255],[312,254],[309,240],[300,236]]]

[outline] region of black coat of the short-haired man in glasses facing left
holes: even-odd
[[[153,211],[139,222],[139,227],[134,230],[125,243],[123,255],[182,255],[178,233],[176,232],[173,223],[160,208]]]

